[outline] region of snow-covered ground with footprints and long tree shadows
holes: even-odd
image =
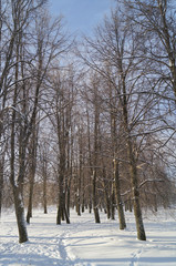
[[[124,232],[104,213],[101,224],[93,214],[80,217],[74,211],[70,225],[55,225],[55,217],[54,207],[49,214],[34,211],[29,242],[19,244],[14,214],[2,213],[0,266],[176,266],[176,209],[144,214],[146,242],[136,239],[132,213],[126,213]]]

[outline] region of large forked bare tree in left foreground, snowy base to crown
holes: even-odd
[[[13,54],[12,78],[14,82],[11,83],[12,90],[10,92],[12,98],[10,180],[14,196],[20,243],[28,241],[23,207],[27,149],[37,124],[39,98],[43,81],[51,61],[61,52],[63,44],[63,37],[60,34],[61,18],[51,24],[46,12],[43,17],[39,10],[43,2],[38,1],[35,3],[30,0],[11,2],[13,22],[11,44]],[[33,19],[34,23],[31,23],[30,27],[29,21],[31,19]],[[37,38],[27,40],[27,37],[30,37],[31,29],[37,32]]]

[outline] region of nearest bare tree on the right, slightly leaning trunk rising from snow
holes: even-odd
[[[83,59],[89,66],[97,71],[104,79],[108,79],[116,90],[116,100],[121,108],[120,124],[123,126],[123,139],[127,149],[137,237],[141,241],[145,241],[146,236],[139,204],[137,158],[133,149],[131,127],[131,119],[133,119],[133,116],[130,115],[132,101],[136,101],[135,96],[133,98],[132,92],[134,90],[134,84],[137,81],[134,79],[135,82],[131,82],[131,79],[133,81],[134,75],[133,70],[137,65],[137,62],[133,60],[133,54],[137,52],[137,42],[133,39],[133,32],[132,34],[130,33],[131,30],[132,29],[127,22],[122,22],[116,12],[112,13],[111,20],[105,20],[104,28],[97,28],[95,41],[90,39],[86,40],[90,50],[87,50],[89,55]],[[113,70],[111,80],[106,72],[106,68],[103,68],[106,63],[108,63]]]

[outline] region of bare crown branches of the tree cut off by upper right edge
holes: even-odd
[[[169,0],[125,0],[128,19],[138,25],[143,40],[142,57],[153,62],[157,82],[164,83],[176,95],[176,24],[175,3]],[[162,65],[162,68],[161,68]],[[162,92],[161,92],[162,94]],[[167,94],[168,95],[168,94]]]

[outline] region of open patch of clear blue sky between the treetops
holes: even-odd
[[[108,13],[114,0],[49,0],[53,16],[63,14],[71,32],[91,33],[92,29]]]

